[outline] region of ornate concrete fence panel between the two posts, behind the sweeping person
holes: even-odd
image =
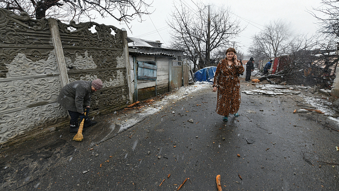
[[[58,25],[69,81],[103,81],[91,108],[115,108],[129,101],[122,30],[94,22]]]

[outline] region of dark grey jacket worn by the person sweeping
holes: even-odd
[[[57,103],[67,110],[83,113],[84,107],[90,106],[91,86],[92,81],[70,82],[61,88]]]

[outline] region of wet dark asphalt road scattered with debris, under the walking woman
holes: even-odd
[[[2,149],[0,189],[176,191],[187,178],[180,191],[216,191],[220,174],[224,191],[339,190],[339,132],[322,125],[329,122],[322,114],[293,113],[300,109],[295,95],[242,93],[240,116],[225,122],[211,90],[94,146],[107,125],[86,130],[82,142],[57,132],[42,147],[18,147],[22,154]]]

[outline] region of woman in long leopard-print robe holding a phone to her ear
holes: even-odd
[[[213,91],[218,90],[216,111],[224,116],[224,121],[228,121],[228,114],[239,116],[241,97],[238,74],[243,72],[244,67],[237,60],[235,49],[227,49],[226,58],[218,63],[213,84]]]

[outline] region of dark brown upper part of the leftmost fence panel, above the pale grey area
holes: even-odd
[[[19,52],[33,61],[47,59],[47,50],[53,50],[48,20],[33,20],[28,14],[20,16],[0,9],[0,78],[6,78],[5,63],[14,59]]]

